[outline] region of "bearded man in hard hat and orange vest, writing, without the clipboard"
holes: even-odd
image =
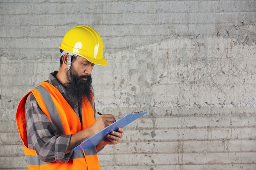
[[[94,148],[71,150],[115,122],[108,114],[95,121],[91,73],[95,64],[108,64],[103,57],[103,41],[94,29],[81,25],[65,34],[59,48],[59,70],[27,93],[18,105],[16,121],[28,168],[100,170],[97,152],[107,144],[117,144],[122,128],[108,134]]]

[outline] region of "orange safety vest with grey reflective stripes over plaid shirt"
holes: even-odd
[[[83,104],[83,127],[79,117],[76,115],[65,98],[56,87],[47,82],[42,82],[32,91],[25,95],[17,108],[16,122],[20,137],[23,141],[25,156],[29,170],[101,170],[97,156],[96,147],[86,150],[73,151],[67,163],[52,162],[45,163],[38,159],[36,150],[27,147],[27,130],[25,120],[25,104],[27,96],[33,93],[41,110],[57,127],[60,135],[70,135],[88,128],[94,122],[94,102],[93,96],[89,96],[89,102]],[[68,113],[68,114],[65,114]]]

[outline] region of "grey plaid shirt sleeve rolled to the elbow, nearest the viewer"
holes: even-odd
[[[36,150],[43,162],[68,162],[72,152],[65,154],[72,135],[59,135],[56,126],[40,109],[31,93],[26,102],[28,147]]]

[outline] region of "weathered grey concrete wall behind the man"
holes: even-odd
[[[93,71],[97,111],[148,111],[102,170],[256,169],[255,0],[1,0],[0,169],[27,169],[16,107],[80,24],[109,63]]]

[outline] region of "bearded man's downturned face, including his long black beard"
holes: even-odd
[[[70,68],[70,82],[66,83],[67,94],[76,99],[81,106],[84,95],[92,91],[92,69],[94,64],[83,57],[76,57]],[[68,77],[68,75],[67,75]]]

